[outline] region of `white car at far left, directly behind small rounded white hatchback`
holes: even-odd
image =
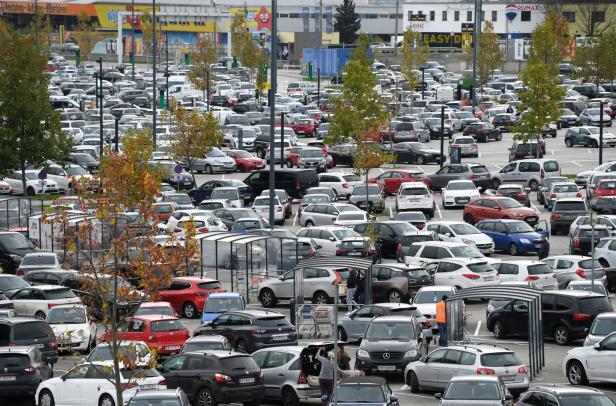
[[[55,305],[81,304],[81,299],[69,288],[56,285],[38,285],[19,289],[11,301],[20,316],[45,319]]]

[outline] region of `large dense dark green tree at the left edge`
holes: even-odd
[[[30,35],[0,29],[0,176],[18,168],[23,190],[28,165],[68,156],[71,139],[49,103],[47,58]]]

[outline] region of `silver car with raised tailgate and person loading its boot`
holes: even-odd
[[[317,399],[321,364],[315,355],[321,347],[331,351],[333,344],[264,348],[252,354],[263,372],[265,398],[280,400],[283,406],[295,406],[300,400]],[[307,361],[307,362],[306,362]]]

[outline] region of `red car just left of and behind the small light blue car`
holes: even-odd
[[[160,300],[171,303],[179,314],[188,319],[199,317],[210,293],[226,292],[216,279],[197,277],[173,278],[171,286],[160,291]]]

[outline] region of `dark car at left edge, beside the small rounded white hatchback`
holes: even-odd
[[[36,346],[43,362],[58,362],[58,340],[45,320],[37,317],[0,319],[0,347]]]

